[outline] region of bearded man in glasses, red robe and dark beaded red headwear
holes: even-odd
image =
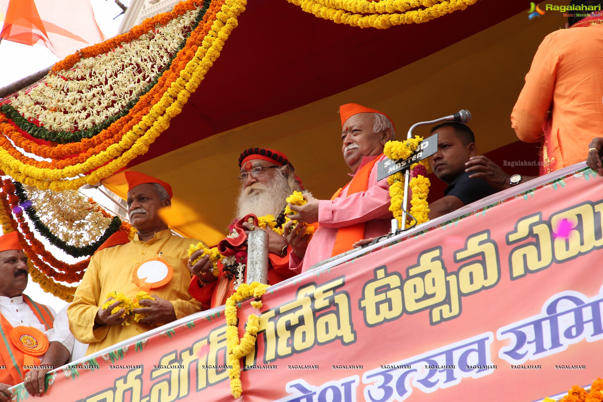
[[[285,199],[295,190],[301,191],[301,180],[295,175],[295,169],[285,154],[274,149],[249,148],[239,156],[241,174],[241,190],[236,199],[236,222],[245,215],[274,215],[279,221],[285,221]],[[242,226],[249,230],[251,224],[244,222]],[[254,230],[265,230],[254,228]],[[295,275],[289,269],[289,255],[303,256],[308,247],[309,236],[303,232],[294,241],[287,243],[283,236],[272,230],[268,233],[268,284],[276,284]],[[191,260],[197,259],[202,251],[192,254]],[[212,263],[203,257],[189,269],[195,275],[192,278],[189,292],[203,306],[220,306],[234,291],[234,281],[222,272],[218,278],[212,272]]]

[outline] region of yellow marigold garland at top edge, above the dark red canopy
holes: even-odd
[[[400,1],[400,0],[287,0],[298,5],[306,13],[329,19],[336,24],[347,24],[352,27],[385,29],[401,24],[420,24],[429,20],[465,10],[478,0],[446,0],[446,1]],[[416,8],[418,10],[409,10]]]

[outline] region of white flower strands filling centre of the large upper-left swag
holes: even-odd
[[[141,35],[121,48],[83,58],[69,71],[49,75],[11,101],[22,116],[48,130],[86,130],[115,116],[163,69],[191,31],[198,10],[187,11],[155,33]]]

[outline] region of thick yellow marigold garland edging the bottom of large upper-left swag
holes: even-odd
[[[98,183],[124,168],[138,155],[147,152],[151,143],[169,127],[171,118],[182,111],[191,93],[195,92],[213,62],[219,57],[224,42],[238,24],[237,17],[245,10],[246,4],[246,0],[226,0],[213,22],[212,30],[203,39],[203,44],[198,47],[195,57],[183,69],[187,74],[181,74],[181,77],[171,84],[160,101],[153,105],[149,113],[128,131],[119,143],[91,156],[84,163],[67,166],[64,169],[36,168],[36,166],[26,165],[21,160],[15,159],[6,149],[0,148],[0,168],[21,183],[52,190],[77,189],[86,183]],[[74,180],[68,179],[86,174],[92,169],[96,170],[87,176]]]

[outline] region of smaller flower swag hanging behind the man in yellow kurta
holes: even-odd
[[[2,172],[0,171],[0,175]],[[69,193],[72,198],[63,199],[65,194],[53,193],[52,190],[38,192],[38,190],[27,190],[21,183],[5,179],[2,181],[0,192],[0,224],[4,233],[17,231],[19,244],[28,256],[31,279],[38,283],[43,291],[51,293],[65,301],[72,301],[77,287],[68,286],[64,283],[77,283],[84,275],[89,263],[89,256],[116,231],[123,231],[131,239],[135,230],[128,222],[122,222],[119,217],[111,216],[92,199],[87,199],[78,192]],[[31,196],[34,201],[28,197]],[[42,201],[42,199],[44,199]],[[41,207],[48,215],[39,216],[35,207]],[[84,217],[86,219],[98,218],[98,222],[88,222],[83,225],[77,219],[63,222],[54,222],[46,225],[54,219],[51,212],[63,214],[61,216]],[[26,219],[26,216],[28,219]],[[90,218],[91,217],[91,218]],[[100,219],[103,218],[103,219]],[[30,222],[34,229],[30,228]],[[108,226],[103,228],[103,224]],[[56,231],[58,230],[58,231]],[[81,231],[78,237],[78,245],[71,245],[60,239],[62,231],[72,233]],[[34,234],[46,237],[49,243],[62,249],[67,254],[77,257],[88,257],[76,263],[66,263],[57,259],[47,250],[45,243],[41,242]]]

